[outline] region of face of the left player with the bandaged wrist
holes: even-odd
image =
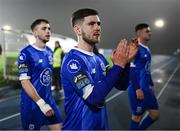
[[[36,37],[36,39],[39,39],[43,43],[48,42],[51,36],[50,25],[41,22],[39,25],[35,27],[33,35]]]

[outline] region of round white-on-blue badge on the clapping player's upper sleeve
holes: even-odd
[[[77,60],[72,59],[68,62],[67,69],[71,73],[76,73],[81,69],[81,65]]]

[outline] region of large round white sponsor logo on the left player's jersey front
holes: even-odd
[[[51,83],[51,69],[46,68],[40,74],[40,82],[44,86],[48,86]]]

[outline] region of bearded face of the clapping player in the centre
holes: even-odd
[[[88,44],[94,45],[100,41],[101,26],[97,15],[85,17],[81,25],[82,39]]]

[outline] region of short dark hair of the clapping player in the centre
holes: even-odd
[[[71,24],[74,26],[78,20],[84,19],[84,17],[98,15],[98,12],[94,9],[84,8],[75,11],[71,17]]]

